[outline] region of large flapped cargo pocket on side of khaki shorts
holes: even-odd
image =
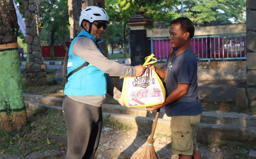
[[[171,135],[172,149],[188,151],[193,147],[192,131],[173,131]]]

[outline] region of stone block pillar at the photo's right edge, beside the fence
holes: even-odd
[[[236,105],[256,112],[256,3],[246,0],[247,82],[237,88]]]

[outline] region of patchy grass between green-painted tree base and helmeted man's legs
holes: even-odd
[[[20,155],[23,158],[32,151],[50,151],[60,147],[49,138],[67,133],[61,111],[46,109],[27,112],[28,124],[22,131],[6,132],[0,128],[0,149],[3,154]]]

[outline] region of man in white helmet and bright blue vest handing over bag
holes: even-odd
[[[83,30],[69,47],[63,100],[63,116],[68,128],[66,159],[94,158],[102,128],[101,104],[107,92],[124,106],[121,92],[106,73],[140,76],[145,70],[142,65],[125,66],[103,56],[98,43],[102,42],[100,38],[108,20],[102,8],[84,8],[79,18]]]

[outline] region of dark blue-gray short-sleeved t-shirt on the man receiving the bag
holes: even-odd
[[[167,116],[195,116],[203,109],[197,91],[197,59],[191,48],[175,55],[176,51],[169,64],[166,61],[163,65],[164,70],[167,67],[169,69],[166,76],[166,95],[170,95],[178,84],[189,84],[189,88],[187,94],[165,107],[165,113]]]

